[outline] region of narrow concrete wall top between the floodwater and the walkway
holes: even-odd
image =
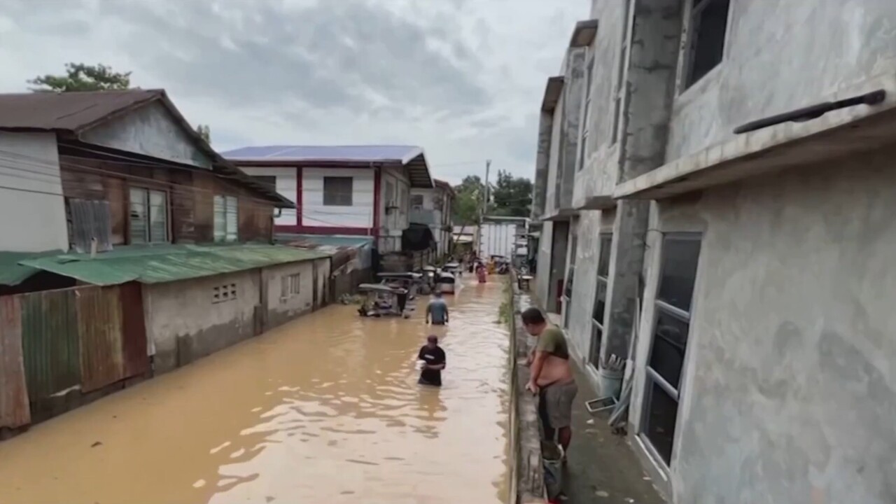
[[[545,469],[541,457],[541,429],[538,424],[537,399],[526,390],[529,368],[525,366],[529,340],[519,314],[529,308],[529,296],[520,291],[516,274],[511,274],[512,320],[510,325],[511,376],[511,454],[513,456],[510,502],[542,504],[547,500]]]

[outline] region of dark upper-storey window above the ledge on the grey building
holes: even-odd
[[[687,24],[684,88],[691,87],[721,63],[731,0],[691,0]]]

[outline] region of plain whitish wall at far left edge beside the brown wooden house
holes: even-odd
[[[0,250],[68,250],[54,133],[0,132]]]

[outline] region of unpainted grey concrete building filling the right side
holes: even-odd
[[[595,394],[671,502],[896,501],[896,4],[590,4],[533,217]]]

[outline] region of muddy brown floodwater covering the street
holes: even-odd
[[[324,308],[39,424],[0,443],[0,502],[504,502],[503,289],[446,296],[447,327],[426,297],[411,319]],[[417,385],[430,333],[440,389]]]

